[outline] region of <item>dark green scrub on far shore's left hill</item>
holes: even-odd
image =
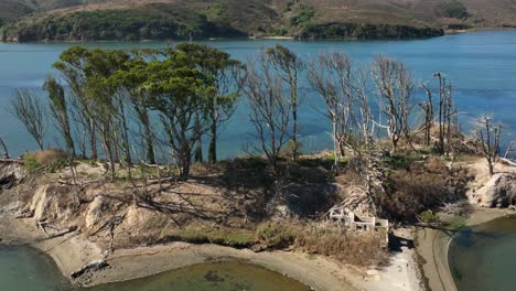
[[[171,12],[172,13],[172,12]],[[181,13],[181,12],[180,12]],[[184,11],[183,13],[189,12]],[[204,15],[155,14],[138,10],[80,11],[19,22],[4,28],[4,37],[26,41],[204,39],[216,28]]]

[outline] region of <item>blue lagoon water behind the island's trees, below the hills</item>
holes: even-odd
[[[412,69],[419,82],[430,82],[434,72],[443,72],[453,83],[461,121],[467,128],[469,120],[483,112],[494,112],[508,128],[506,140],[516,134],[516,31],[484,31],[450,34],[442,37],[411,41],[209,41],[209,45],[245,60],[261,47],[281,43],[303,58],[324,52],[345,52],[357,66],[367,66],[375,54],[399,58]],[[33,88],[41,91],[44,79],[55,72],[52,64],[60,53],[71,45],[88,47],[128,48],[165,47],[164,42],[143,43],[0,43],[0,134],[18,155],[34,150],[35,143],[22,126],[6,111],[15,88]],[[305,86],[305,85],[304,85]],[[422,91],[419,95],[422,97]],[[305,91],[300,112],[301,136],[304,151],[331,147],[329,122],[314,108],[321,101]],[[252,143],[249,115],[240,105],[219,138],[219,157],[235,157],[246,144]],[[54,144],[57,134],[50,130],[47,144]]]

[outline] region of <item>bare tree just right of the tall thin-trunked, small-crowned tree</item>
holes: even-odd
[[[346,54],[321,54],[309,69],[309,82],[324,100],[326,112],[332,122],[335,168],[352,137],[353,79],[352,62]]]

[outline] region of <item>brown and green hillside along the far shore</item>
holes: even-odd
[[[10,41],[409,39],[516,26],[516,0],[2,0],[0,11]]]

